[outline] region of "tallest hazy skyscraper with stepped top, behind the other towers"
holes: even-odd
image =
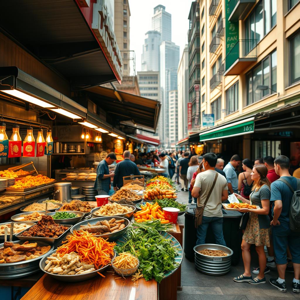
[[[152,30],[161,34],[161,41],[171,41],[171,14],[166,12],[164,5],[154,7]]]

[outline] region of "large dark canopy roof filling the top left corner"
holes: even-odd
[[[2,1],[0,29],[69,79],[73,89],[120,80],[121,72],[104,53],[107,47],[91,29],[94,2],[99,1],[82,8],[73,0]]]

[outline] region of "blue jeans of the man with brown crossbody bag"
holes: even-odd
[[[216,244],[226,246],[223,237],[223,217],[205,217],[202,218],[202,224],[197,228],[197,242],[196,245],[205,244],[205,238],[207,229],[211,223],[212,232],[214,233],[214,238]]]

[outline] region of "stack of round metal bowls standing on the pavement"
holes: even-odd
[[[199,251],[209,250],[222,250],[227,253],[226,256],[208,256],[199,253]],[[225,246],[217,244],[202,244],[194,247],[195,251],[195,266],[196,269],[208,275],[224,275],[230,271],[231,256],[233,251]]]

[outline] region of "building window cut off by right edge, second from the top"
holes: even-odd
[[[290,41],[290,83],[300,80],[300,33]]]

